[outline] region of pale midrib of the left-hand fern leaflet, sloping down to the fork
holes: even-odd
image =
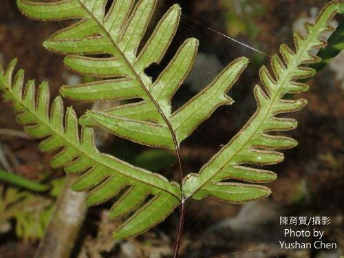
[[[6,83],[3,81],[3,78],[0,78],[0,80],[2,80],[2,84],[3,85],[6,85]],[[26,112],[32,114],[36,120],[38,120],[39,122],[43,123],[45,126],[49,127],[49,129],[53,132],[52,134],[55,134],[59,137],[61,137],[63,140],[65,140],[65,142],[67,142],[70,146],[72,146],[74,149],[80,151],[80,153],[82,153],[83,155],[85,155],[87,158],[89,158],[90,160],[93,160],[95,164],[100,164],[100,166],[105,166],[106,168],[108,168],[110,171],[113,171],[113,169],[111,168],[111,166],[108,166],[106,163],[104,162],[101,162],[99,158],[97,158],[97,156],[93,156],[93,155],[90,155],[88,153],[87,150],[83,149],[81,147],[81,145],[78,143],[78,142],[73,142],[71,140],[69,140],[69,138],[66,138],[65,137],[65,134],[63,132],[61,132],[60,130],[56,130],[54,127],[52,127],[52,125],[50,124],[50,121],[46,120],[44,117],[41,118],[40,116],[38,116],[36,114],[35,111],[32,111],[31,109],[28,109],[25,105],[25,103],[23,103],[23,101],[20,99],[20,98],[17,98],[17,96],[15,94],[12,93],[12,91],[10,90],[10,87],[9,85],[8,86],[5,86],[6,87],[6,90],[7,92],[12,96],[13,99],[15,99],[18,103],[21,104],[21,106],[25,109]],[[117,159],[116,159],[117,160]],[[123,161],[118,161],[118,162],[122,162],[122,163],[125,163],[127,164],[127,162],[123,162]],[[128,164],[129,166],[132,166],[131,164]],[[120,173],[120,171],[117,171],[116,170],[116,173]],[[144,173],[142,171],[142,173]],[[161,191],[164,191],[166,193],[169,193],[171,195],[173,195],[177,200],[180,200],[180,197],[178,197],[177,195],[175,195],[173,192],[170,192],[168,191],[167,189],[164,189],[164,188],[161,188],[159,186],[155,186],[154,184],[149,184],[148,182],[145,182],[145,181],[142,181],[140,179],[140,177],[138,178],[133,178],[131,177],[130,175],[127,175],[127,174],[124,174],[124,173],[120,173],[121,175],[124,175],[125,177],[127,178],[131,178],[133,180],[137,180],[139,182],[142,182],[143,184],[147,184],[149,186],[153,186],[154,188],[156,189],[160,189]]]

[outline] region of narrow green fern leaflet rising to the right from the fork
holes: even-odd
[[[297,141],[285,136],[271,135],[270,131],[287,131],[297,127],[297,121],[282,118],[277,114],[297,111],[307,103],[305,99],[285,100],[287,93],[299,93],[308,90],[308,85],[298,83],[298,78],[314,75],[314,69],[304,67],[308,63],[319,61],[310,50],[323,47],[325,41],[321,33],[332,30],[328,23],[338,10],[338,3],[328,3],[313,24],[306,23],[308,36],[303,39],[294,34],[296,52],[286,45],[281,45],[282,58],[272,56],[272,72],[263,66],[260,69],[261,83],[256,85],[255,99],[257,110],[246,125],[226,144],[200,173],[191,174],[184,180],[184,194],[200,200],[204,197],[215,197],[226,202],[247,202],[270,195],[270,189],[255,184],[237,184],[222,182],[228,179],[244,182],[270,182],[276,175],[272,171],[254,169],[248,164],[276,164],[283,160],[283,153],[276,149],[287,149],[297,145]]]

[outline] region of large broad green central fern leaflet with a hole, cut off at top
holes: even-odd
[[[171,98],[182,85],[195,61],[198,41],[187,39],[154,82],[144,73],[160,63],[180,21],[180,7],[172,6],[138,53],[156,0],[113,1],[105,13],[106,0],[34,2],[17,0],[23,14],[34,19],[80,19],[53,34],[43,45],[67,55],[65,65],[79,74],[102,77],[95,83],[61,87],[61,95],[79,101],[140,99],[106,111],[88,111],[80,124],[101,127],[133,142],[151,147],[178,148],[219,105],[233,100],[226,92],[246,67],[238,58],[184,107],[171,114]],[[135,4],[134,4],[135,3]],[[107,57],[95,56],[105,54]]]

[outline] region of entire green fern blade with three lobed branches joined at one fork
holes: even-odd
[[[306,24],[309,33],[305,39],[294,34],[296,52],[281,45],[283,60],[279,56],[272,57],[274,76],[266,67],[260,70],[265,89],[258,85],[255,87],[258,105],[255,114],[199,173],[187,175],[180,186],[162,175],[99,153],[94,147],[92,127],[106,129],[116,136],[150,147],[174,149],[180,160],[182,175],[180,142],[217,107],[233,103],[226,92],[248,64],[248,59],[238,58],[230,63],[213,83],[172,113],[171,98],[193,65],[197,40],[187,39],[155,81],[145,74],[144,69],[152,63],[160,63],[171,44],[180,20],[178,5],[164,14],[138,53],[155,8],[154,0],[111,1],[109,10],[105,8],[107,0],[17,0],[17,3],[23,14],[33,19],[78,19],[73,25],[53,34],[43,45],[48,50],[65,54],[65,65],[69,69],[104,79],[65,85],[61,87],[62,96],[87,102],[136,100],[110,110],[87,111],[79,119],[82,126],[79,139],[76,115],[69,107],[63,118],[61,97],[58,96],[51,111],[48,110],[47,84],[39,87],[35,100],[32,81],[25,86],[22,94],[22,71],[12,82],[14,62],[0,77],[4,96],[20,112],[18,120],[25,131],[36,138],[45,138],[41,144],[43,151],[58,150],[52,159],[52,166],[63,166],[67,173],[83,173],[74,189],[90,190],[87,198],[89,205],[105,202],[120,194],[111,208],[111,215],[117,217],[135,211],[116,231],[118,239],[138,235],[155,226],[175,207],[184,206],[189,197],[197,200],[215,197],[226,202],[242,203],[270,195],[266,186],[252,183],[275,180],[275,173],[247,164],[281,162],[283,154],[274,150],[297,144],[292,138],[268,132],[286,131],[297,126],[295,120],[276,115],[296,111],[305,105],[305,100],[283,100],[283,96],[308,89],[307,85],[296,80],[312,76],[314,70],[300,65],[318,61],[310,50],[325,45],[319,36],[321,32],[331,30],[328,23],[339,8],[336,1],[328,3],[314,25]],[[250,184],[228,182],[233,179]],[[149,195],[151,198],[148,200]]]

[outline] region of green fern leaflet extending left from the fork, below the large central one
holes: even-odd
[[[12,82],[16,61],[6,72],[1,70],[0,89],[3,98],[12,102],[19,114],[18,122],[34,138],[43,138],[41,151],[57,151],[50,164],[64,167],[67,173],[83,173],[74,184],[76,191],[89,190],[88,205],[96,205],[112,197],[120,197],[111,208],[118,217],[135,211],[116,231],[118,238],[131,237],[161,222],[180,204],[178,184],[162,175],[132,166],[110,155],[99,153],[94,146],[93,129],[83,127],[79,137],[76,114],[68,107],[63,115],[63,103],[58,96],[49,110],[47,83],[39,86],[36,97],[34,81],[23,85],[23,70]],[[151,197],[150,200],[149,197]],[[141,208],[138,209],[138,207]]]

